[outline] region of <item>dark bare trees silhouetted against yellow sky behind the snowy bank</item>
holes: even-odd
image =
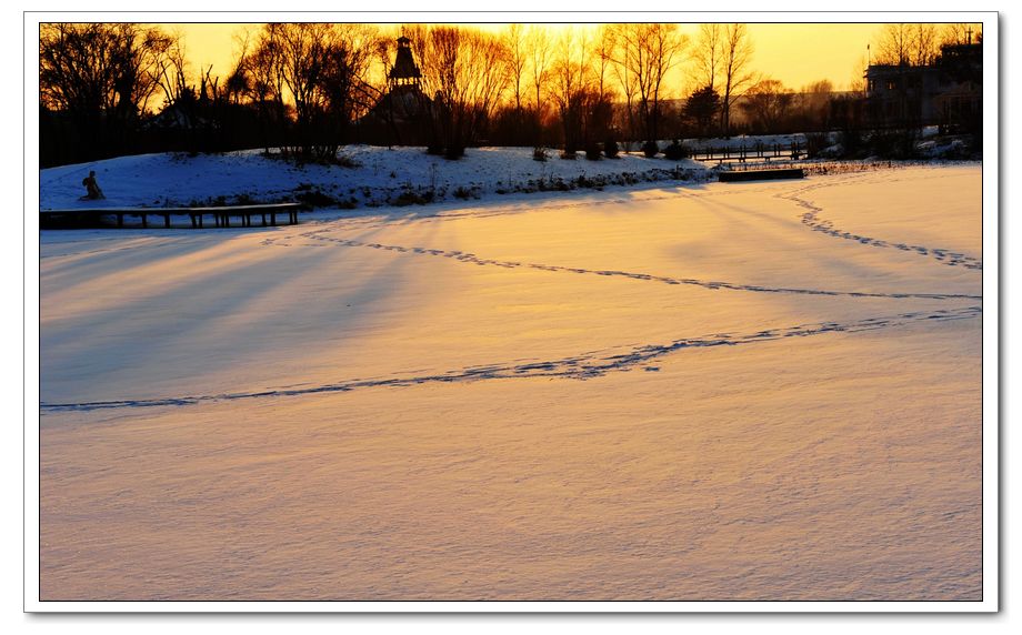
[[[888,26],[878,51],[930,63],[965,27]],[[247,148],[329,162],[354,142],[450,159],[480,144],[597,158],[618,143],[652,154],[663,139],[861,129],[861,92],[826,80],[793,90],[753,72],[753,53],[744,24],[690,38],[662,23],[271,23],[231,68],[196,70],[158,28],[42,24],[41,163]]]

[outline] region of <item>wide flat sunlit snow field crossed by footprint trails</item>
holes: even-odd
[[[980,185],[43,232],[41,598],[980,599]]]

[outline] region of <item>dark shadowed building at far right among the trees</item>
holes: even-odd
[[[870,64],[865,120],[876,128],[971,128],[983,110],[983,44],[944,44],[932,64]]]

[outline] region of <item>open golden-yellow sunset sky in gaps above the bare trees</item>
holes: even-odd
[[[246,30],[254,33],[259,24],[239,23],[167,23],[168,31],[180,31],[186,51],[198,67],[213,65],[213,75],[230,72],[237,37]],[[472,24],[501,30],[504,24]],[[553,30],[569,24],[547,24]],[[579,24],[571,24],[579,27]],[[595,24],[593,24],[595,27]],[[694,36],[697,24],[682,24],[682,31]],[[866,44],[882,28],[879,23],[750,23],[749,32],[755,47],[752,67],[764,75],[799,89],[810,82],[829,79],[835,90],[845,90],[853,77],[862,77]]]

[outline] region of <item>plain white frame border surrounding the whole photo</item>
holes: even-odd
[[[129,22],[973,22],[983,24],[983,599],[979,602],[57,602],[39,597],[39,24],[51,21]],[[26,12],[24,62],[24,542],[23,609],[29,613],[991,613],[1000,599],[999,532],[999,163],[1000,40],[993,11],[732,11],[732,12]]]

